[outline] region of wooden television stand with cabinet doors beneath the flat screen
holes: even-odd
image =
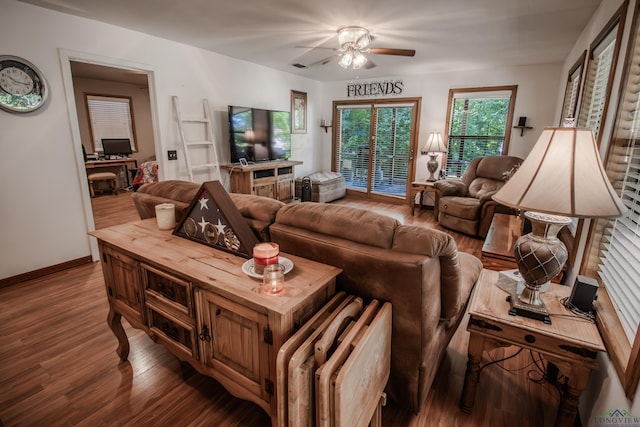
[[[294,167],[297,160],[258,162],[247,166],[226,164],[221,168],[229,171],[233,193],[253,194],[289,202],[294,196]]]

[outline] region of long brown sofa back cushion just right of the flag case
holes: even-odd
[[[364,209],[312,202],[283,207],[276,222],[385,249],[393,244],[395,229],[400,224],[394,218]]]

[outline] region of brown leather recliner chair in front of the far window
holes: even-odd
[[[515,213],[493,201],[491,196],[521,163],[521,158],[512,156],[477,157],[469,163],[461,179],[436,181],[433,209],[438,223],[485,238],[494,213]]]

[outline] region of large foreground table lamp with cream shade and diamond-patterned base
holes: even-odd
[[[591,130],[545,128],[493,200],[525,211],[532,225],[532,232],[515,244],[525,287],[520,295],[511,295],[509,314],[550,324],[540,288],[560,273],[567,260],[557,233],[571,222],[569,217],[613,218],[627,210],[607,178]]]

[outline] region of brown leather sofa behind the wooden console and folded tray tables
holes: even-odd
[[[184,194],[178,194],[180,187]],[[194,195],[197,188],[192,183],[147,184],[135,193],[134,202],[141,217],[153,216],[157,202],[174,198],[176,208],[177,202],[188,206],[186,192]],[[265,218],[264,211],[273,213],[271,199],[231,197],[235,203],[240,201],[240,211],[248,220],[251,214]],[[387,391],[398,404],[418,412],[464,316],[482,270],[480,260],[458,252],[453,238],[444,232],[402,225],[394,218],[348,206],[282,205],[272,222],[269,235],[283,252],[341,268],[340,290],[392,303]]]

